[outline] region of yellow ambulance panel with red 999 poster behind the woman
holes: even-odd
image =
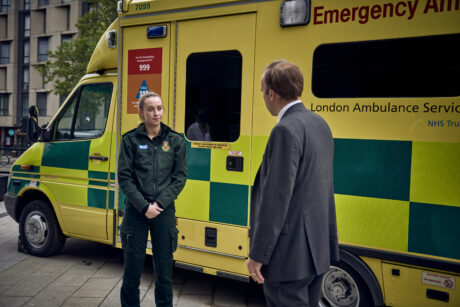
[[[165,26],[166,36],[148,38],[147,29],[154,26]],[[161,95],[164,115],[163,122],[169,125],[169,113],[172,110],[172,100],[169,93],[169,69],[170,69],[170,42],[172,29],[168,22],[161,24],[148,24],[136,27],[120,28],[122,31],[122,47],[120,51],[122,63],[119,63],[119,73],[122,74],[122,91],[121,106],[117,112],[116,140],[117,144],[112,147],[112,165],[110,185],[115,187],[116,184],[116,163],[118,159],[118,149],[122,136],[127,131],[136,128],[140,124],[138,113],[138,101],[143,93],[150,91]],[[121,70],[120,70],[121,68]],[[116,208],[116,216],[112,225],[120,225],[122,218],[119,213],[125,209],[125,196],[119,186],[110,191],[111,209]],[[118,204],[118,205],[115,205]],[[115,226],[116,227],[116,226]],[[112,231],[113,231],[113,227]],[[121,241],[118,238],[118,230],[115,232],[116,240],[114,244],[121,247]],[[151,252],[150,252],[151,253]]]

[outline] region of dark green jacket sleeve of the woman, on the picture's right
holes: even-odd
[[[179,144],[174,148],[174,169],[171,174],[171,183],[157,197],[157,202],[166,209],[174,202],[185,186],[187,180],[187,151],[185,140],[180,138]]]

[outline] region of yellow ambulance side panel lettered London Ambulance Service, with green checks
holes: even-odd
[[[275,4],[264,5],[258,14],[254,83],[264,67],[280,57],[296,63],[303,72],[301,99],[308,109],[328,122],[335,138],[334,186],[341,242],[445,257],[458,262],[460,97],[446,93],[435,97],[417,93],[398,97],[385,93],[391,84],[385,80],[373,84],[383,89],[383,97],[330,95],[322,98],[314,94],[313,75],[321,73],[317,57],[325,45],[354,46],[356,57],[358,54],[362,57],[352,62],[343,76],[353,79],[358,75],[361,81],[356,81],[355,86],[365,87],[367,76],[379,67],[395,67],[395,75],[398,69],[405,72],[405,67],[412,67],[406,65],[414,63],[390,66],[394,64],[391,63],[393,59],[398,59],[393,56],[398,50],[393,49],[391,54],[379,53],[380,58],[376,58],[368,70],[359,70],[356,63],[363,63],[378,52],[377,44],[373,45],[375,42],[407,38],[405,44],[410,45],[425,37],[460,33],[460,7],[455,1],[418,1],[412,13],[408,7],[401,11],[405,5],[402,2],[387,2],[312,1],[310,23],[291,28],[279,27]],[[357,15],[347,17],[346,14],[353,10]],[[378,10],[381,13],[376,14]],[[364,43],[376,49],[359,53]],[[443,49],[436,52],[437,58],[430,58],[429,54],[423,58],[414,55],[420,64],[415,67],[436,66],[436,63],[441,66],[443,54],[452,60],[452,66],[443,67],[458,67],[458,57],[451,56],[450,52],[457,50],[458,43],[452,42],[450,48],[448,45],[438,48]],[[423,48],[419,48],[414,54],[423,52]],[[323,70],[334,69],[333,59],[337,54],[323,54],[326,59],[320,63],[324,64]],[[410,60],[410,57],[405,59]],[[429,73],[426,78],[436,76],[430,70],[421,69],[420,73]],[[449,75],[453,80],[458,78],[453,70]],[[401,87],[409,86],[411,81],[405,80]],[[325,83],[334,87],[331,91],[341,87],[333,78]],[[418,88],[429,86],[420,82]],[[253,176],[275,123],[276,119],[269,116],[262,95],[255,88]]]

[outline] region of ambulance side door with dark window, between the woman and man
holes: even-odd
[[[188,180],[176,202],[180,231],[176,260],[241,275],[247,274],[244,259],[249,244],[255,24],[256,14],[242,14],[179,22],[177,31],[176,129],[186,132]],[[242,61],[222,76],[216,70],[226,57]],[[199,63],[201,71],[196,68]],[[228,81],[232,74],[238,74],[241,85]],[[216,99],[219,95],[222,99]],[[228,97],[241,101],[236,111],[240,114],[235,112],[239,118],[236,140],[219,134],[217,121],[226,120],[226,112],[231,112]],[[209,115],[210,140],[191,137],[193,104]],[[243,161],[240,171],[228,168],[227,159],[234,157]],[[206,242],[206,228],[215,229],[215,245]],[[211,258],[215,260],[208,261]]]

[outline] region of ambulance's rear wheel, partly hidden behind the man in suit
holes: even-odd
[[[349,265],[340,262],[324,275],[320,306],[372,306],[369,289],[363,279]]]

